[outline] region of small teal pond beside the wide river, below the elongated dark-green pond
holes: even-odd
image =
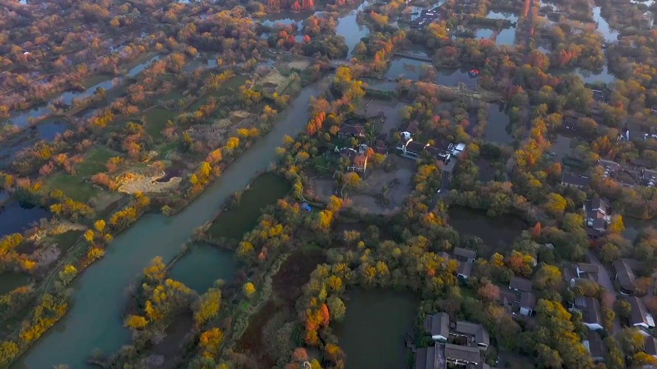
[[[237,265],[233,252],[219,250],[207,244],[192,245],[182,259],[169,271],[169,278],[182,282],[199,295],[212,287],[214,281],[229,281],[235,275]]]

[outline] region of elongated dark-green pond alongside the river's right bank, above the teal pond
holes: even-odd
[[[290,192],[290,183],[273,173],[258,176],[242,193],[237,206],[222,211],[210,226],[209,232],[216,238],[240,240],[244,233],[258,225],[262,209],[276,204]]]

